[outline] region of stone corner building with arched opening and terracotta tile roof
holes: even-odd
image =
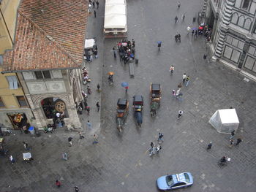
[[[68,128],[80,127],[76,102],[83,99],[87,10],[84,0],[20,1],[14,47],[3,55],[2,73],[17,75],[34,116],[32,126],[43,128],[63,112]]]

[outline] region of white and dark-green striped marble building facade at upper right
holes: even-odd
[[[256,77],[256,0],[208,0],[216,58]]]

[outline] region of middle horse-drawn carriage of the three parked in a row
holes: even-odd
[[[138,126],[141,126],[143,122],[142,110],[143,110],[143,96],[133,96],[133,107],[135,109],[135,119]]]

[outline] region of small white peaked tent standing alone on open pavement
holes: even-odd
[[[222,134],[230,134],[231,131],[236,130],[239,126],[235,109],[217,110],[211,116],[209,123]]]

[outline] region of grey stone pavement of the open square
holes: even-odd
[[[6,144],[18,161],[12,165],[7,158],[0,157],[0,191],[74,191],[75,185],[80,191],[157,191],[157,177],[177,172],[193,174],[194,185],[184,191],[255,191],[255,82],[244,81],[243,76],[222,64],[206,62],[204,39],[186,37],[184,28],[190,24],[189,17],[199,10],[200,1],[181,1],[180,10],[167,0],[156,9],[156,2],[127,1],[128,39],[135,39],[139,58],[134,79],[129,78],[128,66],[113,58],[111,49],[116,39],[102,39],[104,9],[99,4],[99,14],[96,19],[89,18],[86,35],[97,37],[99,58],[86,64],[93,94],[89,96],[91,116],[85,112],[80,116],[85,139],[79,139],[77,131],[64,129],[40,137],[14,131],[6,137]],[[166,25],[185,11],[184,23]],[[176,31],[181,32],[180,44],[173,40]],[[160,53],[156,47],[159,37],[163,41]],[[168,71],[170,64],[176,67],[173,77]],[[115,72],[112,87],[107,82],[109,71]],[[179,102],[172,99],[170,91],[177,88],[184,72],[192,80],[187,88],[181,88],[184,97]],[[129,82],[127,95],[121,88],[122,81]],[[97,82],[102,82],[102,94],[94,91]],[[150,82],[162,85],[161,107],[156,118],[149,115]],[[133,118],[131,104],[135,94],[144,96],[142,128],[136,128]],[[122,134],[118,134],[115,122],[118,98],[130,102]],[[96,112],[96,100],[102,106],[100,113]],[[236,108],[240,120],[236,138],[243,139],[241,145],[233,148],[228,147],[229,135],[218,134],[208,123],[216,110],[229,107]],[[177,120],[180,109],[184,115]],[[95,125],[92,130],[86,129],[88,119]],[[165,141],[160,153],[150,158],[147,149],[159,131],[164,133]],[[96,145],[92,145],[94,133],[99,135]],[[74,138],[72,147],[68,147],[68,137]],[[23,141],[32,146],[31,164],[22,161]],[[210,141],[213,147],[206,151]],[[68,161],[61,159],[63,151],[69,155]],[[222,155],[232,161],[219,169],[217,161]],[[56,179],[61,180],[61,188],[56,188]]]

